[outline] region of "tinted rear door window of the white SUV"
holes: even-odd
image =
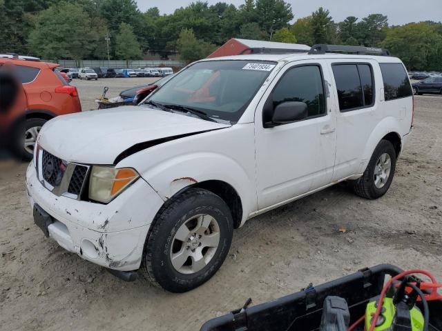
[[[374,83],[372,66],[365,63],[332,66],[340,112],[372,106]]]

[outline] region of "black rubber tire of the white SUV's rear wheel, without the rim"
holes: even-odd
[[[374,171],[376,168],[376,163],[378,162],[381,155],[384,153],[387,153],[391,160],[390,174],[383,187],[377,188],[374,183]],[[370,159],[363,176],[359,179],[356,179],[356,181],[352,181],[352,188],[354,192],[360,197],[367,199],[378,199],[379,197],[382,197],[390,188],[395,169],[396,151],[394,150],[394,146],[390,141],[381,140],[378,143],[378,146],[376,146],[376,148],[374,149],[372,158]]]

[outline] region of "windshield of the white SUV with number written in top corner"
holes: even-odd
[[[176,74],[146,102],[184,106],[236,123],[276,66],[270,61],[203,61]]]

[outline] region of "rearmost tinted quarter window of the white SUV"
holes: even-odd
[[[385,101],[412,96],[407,72],[401,63],[380,63]]]

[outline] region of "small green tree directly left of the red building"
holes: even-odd
[[[197,39],[193,30],[183,29],[177,41],[177,48],[180,50],[180,58],[186,63],[191,63],[209,55],[216,46]]]

